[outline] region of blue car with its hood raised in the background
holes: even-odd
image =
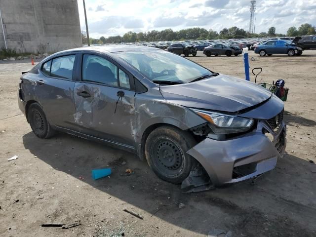
[[[255,48],[255,53],[260,56],[271,56],[272,54],[287,54],[288,56],[301,55],[303,49],[296,45],[301,37],[296,37],[292,42],[288,40],[270,40],[259,44]]]

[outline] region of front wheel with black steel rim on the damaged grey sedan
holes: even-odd
[[[188,177],[195,164],[195,159],[187,154],[195,144],[194,138],[181,129],[158,127],[146,140],[147,162],[160,179],[179,184]]]

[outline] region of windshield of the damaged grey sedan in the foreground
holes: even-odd
[[[159,80],[188,83],[213,73],[188,59],[163,50],[116,52],[115,54],[156,83]]]

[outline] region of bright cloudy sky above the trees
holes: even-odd
[[[85,31],[82,0],[78,6]],[[248,31],[250,20],[250,0],[85,0],[85,6],[91,38],[167,28]],[[291,26],[316,25],[316,0],[257,0],[255,18],[255,33],[274,26],[276,33],[286,34]]]

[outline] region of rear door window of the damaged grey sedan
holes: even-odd
[[[73,79],[73,69],[76,55],[54,58],[52,60],[50,76],[63,79]]]

